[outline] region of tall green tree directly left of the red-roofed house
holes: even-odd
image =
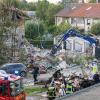
[[[51,4],[47,0],[37,3],[36,15],[45,23],[48,32],[54,33],[55,14],[62,8],[63,6],[61,4]]]

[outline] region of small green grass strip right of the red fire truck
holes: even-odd
[[[41,87],[25,87],[24,91],[26,92],[27,95],[32,96],[36,95],[38,93],[46,92],[46,88],[41,88]]]

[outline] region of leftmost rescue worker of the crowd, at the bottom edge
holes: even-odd
[[[47,95],[49,100],[54,100],[56,98],[56,89],[54,86],[48,88]]]

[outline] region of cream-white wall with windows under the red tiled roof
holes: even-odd
[[[92,18],[63,18],[63,17],[55,17],[55,24],[59,25],[61,22],[65,21],[69,22],[72,26],[79,27],[80,29],[84,29],[87,32],[93,23],[100,22],[100,19],[92,19]]]

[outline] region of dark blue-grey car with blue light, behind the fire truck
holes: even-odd
[[[0,66],[0,70],[4,70],[9,74],[18,73],[18,75],[25,77],[27,75],[26,66],[22,63],[8,63]]]

